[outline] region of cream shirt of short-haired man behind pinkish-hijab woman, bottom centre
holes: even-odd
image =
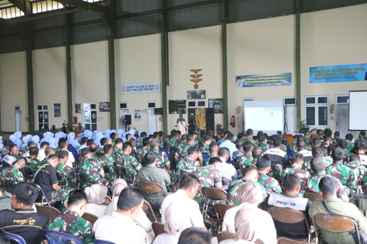
[[[164,200],[161,205],[162,223],[165,222],[164,211],[170,204],[173,204],[171,206],[172,211],[181,211],[181,212],[183,211],[186,213],[185,216],[187,218],[181,220],[182,225],[183,226],[186,225],[186,228],[192,226],[201,228],[204,226],[203,215],[199,210],[199,204],[197,204],[197,202],[195,202],[194,200],[190,199],[187,193],[182,191],[181,189],[178,189],[177,192],[164,197]]]

